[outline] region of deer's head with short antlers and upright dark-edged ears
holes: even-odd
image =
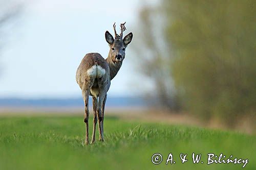
[[[106,42],[108,42],[110,45],[109,57],[111,57],[114,63],[119,63],[123,61],[123,59],[125,58],[125,48],[132,41],[133,38],[133,33],[129,33],[123,38],[123,32],[126,30],[124,24],[125,22],[120,24],[121,33],[120,35],[118,35],[116,33],[116,23],[114,23],[113,29],[115,32],[115,39],[109,31],[105,32]]]

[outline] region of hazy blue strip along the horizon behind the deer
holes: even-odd
[[[92,106],[90,97],[89,105]],[[142,98],[109,97],[106,100],[108,107],[145,107],[147,104]],[[0,99],[0,107],[83,107],[82,98],[73,99]]]

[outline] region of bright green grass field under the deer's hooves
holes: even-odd
[[[91,135],[92,119],[89,126]],[[131,122],[108,115],[105,142],[83,145],[84,132],[82,116],[2,116],[0,169],[256,169],[253,135]],[[163,157],[158,165],[151,161],[154,153]],[[165,164],[169,153],[175,164]],[[187,162],[181,163],[180,153],[187,154]],[[200,163],[193,163],[192,153],[202,154]],[[243,163],[207,165],[209,153],[249,162],[244,168]]]

